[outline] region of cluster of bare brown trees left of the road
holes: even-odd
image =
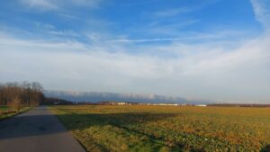
[[[10,82],[0,84],[0,105],[39,105],[45,96],[39,82]]]

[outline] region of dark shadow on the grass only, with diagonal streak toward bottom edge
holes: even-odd
[[[177,144],[174,145],[168,144],[166,142],[166,137],[158,137],[151,133],[147,133],[143,130],[138,130],[140,128],[138,125],[141,125],[148,122],[154,122],[159,120],[166,120],[169,118],[175,118],[175,113],[151,113],[151,112],[122,112],[122,113],[89,113],[89,114],[77,114],[73,113],[68,114],[59,114],[58,118],[62,121],[67,130],[84,130],[89,129],[90,127],[104,127],[112,126],[121,130],[124,130],[129,135],[135,135],[140,138],[146,137],[148,140],[144,142],[151,143],[153,146],[152,151],[159,151],[160,148],[169,147],[172,151],[190,151],[190,152],[201,152],[201,149],[193,149],[191,145],[188,144]],[[136,126],[136,129],[132,126]],[[171,141],[172,142],[172,141]],[[157,146],[158,145],[158,146]],[[171,146],[168,146],[171,145]],[[104,148],[100,145],[101,148]],[[110,151],[110,149],[106,149]],[[106,151],[104,150],[104,151]]]

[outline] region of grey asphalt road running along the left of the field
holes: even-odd
[[[0,152],[85,152],[46,107],[0,121]]]

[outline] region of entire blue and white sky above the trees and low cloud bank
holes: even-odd
[[[268,0],[10,0],[0,82],[270,103]]]

